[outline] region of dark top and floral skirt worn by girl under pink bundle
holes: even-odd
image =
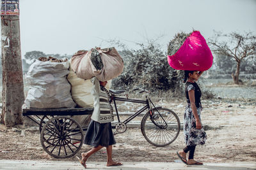
[[[188,92],[190,90],[195,90],[195,104],[196,104],[196,110],[198,117],[201,121],[201,111],[202,106],[200,102],[200,97],[202,95],[200,88],[198,85],[194,82],[187,82],[185,86],[185,92],[187,97],[187,106],[184,113],[184,139],[186,146],[196,146],[196,145],[204,145],[207,135],[204,131],[204,128],[202,126],[202,129],[196,129],[196,119],[194,117],[193,111],[191,109],[191,104],[188,97]]]

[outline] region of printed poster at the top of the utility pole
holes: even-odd
[[[19,15],[19,0],[2,0],[1,15]]]

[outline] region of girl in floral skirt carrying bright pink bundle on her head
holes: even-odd
[[[186,147],[177,152],[184,164],[202,165],[194,160],[197,145],[204,145],[207,135],[201,121],[202,92],[196,83],[202,73],[212,66],[212,53],[199,31],[176,34],[168,46],[168,63],[173,69],[184,70],[186,110],[184,113],[184,139]],[[186,153],[189,153],[188,159]]]

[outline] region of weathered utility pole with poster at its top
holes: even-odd
[[[1,1],[2,113],[6,127],[22,124],[24,85],[20,52],[19,0]]]

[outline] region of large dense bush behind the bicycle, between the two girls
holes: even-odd
[[[161,94],[170,90],[170,96],[183,95],[183,71],[172,69],[167,61],[167,55],[154,42],[148,45],[140,44],[138,50],[122,50],[124,71],[113,79],[113,89],[132,90],[140,87],[152,94]]]

